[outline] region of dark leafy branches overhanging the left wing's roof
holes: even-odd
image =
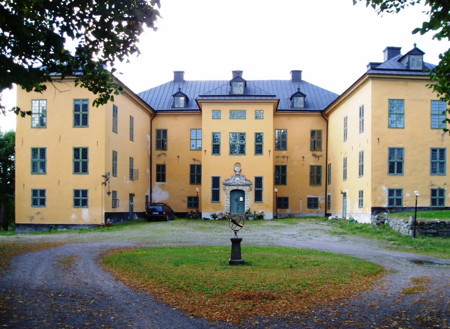
[[[75,76],[76,86],[98,95],[95,106],[113,101],[123,90],[112,76],[114,62],[139,54],[144,27],[156,30],[156,6],[159,0],[0,1],[0,92],[14,83],[42,92],[57,74]],[[67,41],[78,43],[74,53]],[[5,113],[1,101],[0,108]]]

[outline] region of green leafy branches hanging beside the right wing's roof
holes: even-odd
[[[429,20],[422,23],[422,27],[417,27],[412,34],[420,33],[421,35],[435,31],[433,39],[450,41],[450,1],[449,0],[358,0],[365,1],[366,6],[374,8],[378,14],[398,13],[400,10],[408,6],[424,4],[425,13]],[[353,0],[355,5],[357,0]],[[428,70],[432,83],[428,86],[432,88],[441,100],[450,104],[450,49],[439,55],[439,63],[436,68]],[[447,109],[450,113],[450,109]],[[446,119],[450,123],[450,119]],[[449,129],[444,129],[449,131]]]

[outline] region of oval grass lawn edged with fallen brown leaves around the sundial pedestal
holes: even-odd
[[[229,266],[230,247],[162,247],[103,258],[118,279],[187,315],[240,321],[311,310],[369,288],[383,271],[369,261],[309,249],[243,246],[245,265]]]

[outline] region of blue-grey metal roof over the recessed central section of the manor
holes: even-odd
[[[181,91],[189,97],[186,108],[172,108],[172,95]],[[291,108],[289,98],[297,88],[306,95],[305,108]],[[315,86],[309,82],[291,82],[290,80],[247,80],[246,95],[229,95],[229,80],[197,80],[173,82],[169,81],[160,86],[145,90],[138,94],[148,105],[157,111],[162,110],[198,110],[195,99],[279,99],[279,110],[317,111],[323,110],[338,97],[329,90]]]

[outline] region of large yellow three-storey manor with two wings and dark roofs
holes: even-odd
[[[387,47],[342,95],[302,80],[174,78],[99,108],[71,79],[18,90],[16,230],[79,228],[143,216],[247,209],[353,216],[446,207],[446,103],[424,52]],[[57,77],[55,77],[57,78]],[[120,81],[118,81],[120,82]],[[60,85],[60,86],[59,86]],[[36,97],[38,95],[38,97]]]

